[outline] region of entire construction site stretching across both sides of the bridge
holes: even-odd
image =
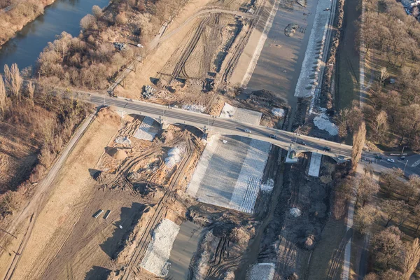
[[[285,36],[298,33],[283,53],[294,62],[298,51],[291,49],[300,48],[314,20],[306,1],[279,5],[277,0],[188,1],[148,43],[142,62],[109,93],[287,130],[294,110],[284,94],[294,92],[290,85],[281,94],[259,86],[246,91],[279,7],[302,7],[289,14],[303,14],[300,25],[281,21]],[[319,25],[324,27],[329,15],[325,12]],[[316,77],[305,76],[307,94],[314,94],[321,69],[326,31],[320,30],[311,36],[316,45],[309,56],[317,64]],[[286,64],[281,73],[297,70]],[[297,74],[284,74],[287,83]],[[251,84],[258,84],[255,78]],[[1,241],[6,248],[0,253],[1,276],[336,279],[342,235],[325,235],[345,228],[344,221],[332,225],[329,215],[332,186],[347,163],[337,165],[318,153],[293,155],[267,141],[102,108],[50,193],[41,196],[34,220],[22,218],[15,227],[18,236]],[[8,249],[17,240],[23,240],[19,257]]]

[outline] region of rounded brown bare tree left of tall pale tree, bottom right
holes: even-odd
[[[374,257],[385,268],[389,268],[391,263],[398,267],[401,265],[404,248],[401,236],[402,232],[397,227],[391,226],[372,237]]]

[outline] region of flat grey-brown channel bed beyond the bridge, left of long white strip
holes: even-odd
[[[295,104],[295,83],[307,47],[311,30],[314,1],[307,1],[307,7],[295,1],[282,1],[274,18],[267,41],[255,66],[253,76],[248,83],[248,90],[265,89]],[[293,36],[286,36],[284,29],[289,24],[299,27]]]

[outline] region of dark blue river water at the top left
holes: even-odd
[[[19,69],[34,66],[43,48],[66,31],[72,36],[80,32],[80,20],[91,13],[92,6],[104,7],[109,0],[57,0],[45,13],[29,22],[0,49],[0,71],[4,64],[17,63]]]

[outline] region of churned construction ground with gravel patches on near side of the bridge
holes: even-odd
[[[228,104],[223,114],[262,121]],[[22,224],[25,253],[7,269],[12,251],[3,251],[2,271],[16,279],[303,276],[328,221],[337,165],[311,153],[290,165],[286,154],[264,141],[206,139],[196,127],[162,129],[101,109],[36,223]]]

